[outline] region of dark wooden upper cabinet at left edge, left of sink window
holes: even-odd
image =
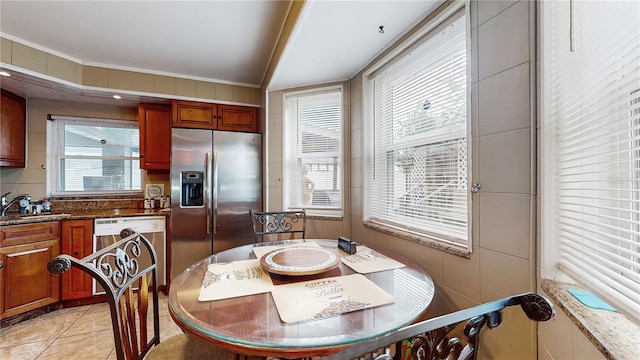
[[[26,100],[3,89],[0,107],[0,166],[25,167]]]

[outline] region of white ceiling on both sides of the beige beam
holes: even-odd
[[[441,2],[307,0],[267,87],[349,79]],[[290,5],[2,0],[0,32],[84,65],[261,87]],[[62,96],[44,83],[18,76],[1,85],[26,97]]]

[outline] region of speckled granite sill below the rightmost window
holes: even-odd
[[[640,351],[640,326],[620,313],[591,309],[568,290],[581,286],[554,280],[542,280],[542,290],[563,311],[607,359],[637,359]]]

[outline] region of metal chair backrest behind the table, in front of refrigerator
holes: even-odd
[[[249,210],[254,242],[304,238],[307,229],[306,211]]]

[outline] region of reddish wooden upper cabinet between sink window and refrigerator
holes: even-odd
[[[140,121],[140,168],[171,168],[171,106],[138,105]]]

